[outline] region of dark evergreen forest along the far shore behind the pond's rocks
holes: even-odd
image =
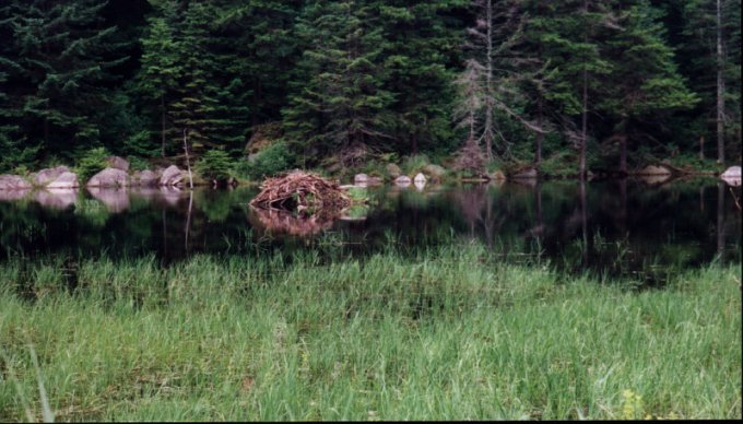
[[[2,0],[0,172],[739,163],[740,22],[733,0]]]

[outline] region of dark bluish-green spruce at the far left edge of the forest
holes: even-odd
[[[0,31],[10,37],[1,61],[11,70],[2,115],[15,114],[30,145],[42,144],[45,153],[70,155],[99,142],[105,122],[95,117],[111,102],[110,69],[126,60],[116,52],[116,27],[101,27],[105,5],[105,0],[11,0],[2,7]]]

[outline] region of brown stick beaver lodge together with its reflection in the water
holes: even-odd
[[[250,201],[267,229],[298,236],[329,228],[351,204],[338,184],[299,170],[267,179]]]

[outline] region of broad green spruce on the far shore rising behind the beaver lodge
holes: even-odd
[[[343,162],[389,140],[392,94],[384,87],[381,31],[378,16],[363,0],[315,3],[297,31],[307,46],[299,67],[306,80],[284,111],[294,140],[323,152],[341,153]]]

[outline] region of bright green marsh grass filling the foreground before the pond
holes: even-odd
[[[37,370],[57,421],[741,417],[740,264],[637,291],[480,246],[285,262],[3,262],[0,421],[42,419]]]

